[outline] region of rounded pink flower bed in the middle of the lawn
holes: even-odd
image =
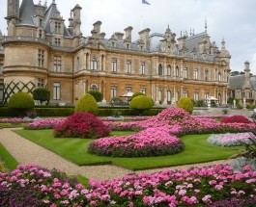
[[[101,138],[91,142],[88,151],[112,157],[150,157],[181,152],[185,144],[170,132],[180,128],[171,126],[148,128],[130,136]]]

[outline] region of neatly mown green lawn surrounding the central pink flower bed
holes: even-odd
[[[111,158],[87,153],[91,139],[54,138],[52,130],[14,130],[20,136],[59,154],[78,166],[113,164],[129,169],[159,168],[195,164],[229,158],[242,147],[220,147],[207,142],[210,135],[187,135],[182,138],[182,153],[146,158]],[[111,135],[128,135],[134,132],[113,132]]]

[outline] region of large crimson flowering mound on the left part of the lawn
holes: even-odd
[[[69,116],[63,123],[54,127],[55,138],[97,139],[106,137],[110,129],[97,116],[78,112]]]

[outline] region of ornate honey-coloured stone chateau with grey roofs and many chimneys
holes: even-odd
[[[164,34],[149,28],[132,40],[132,27],[110,39],[93,25],[90,37],[81,33],[81,7],[71,10],[69,26],[55,0],[8,0],[8,35],[0,37],[0,96],[6,102],[15,91],[47,87],[53,104],[75,104],[86,91],[99,90],[103,101],[127,91],[145,92],[156,103],[171,104],[183,96],[227,102],[230,73],[225,41],[221,49],[206,30],[177,39],[169,26]],[[2,98],[2,97],[0,97]]]

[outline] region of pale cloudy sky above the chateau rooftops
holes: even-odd
[[[0,29],[6,35],[7,0],[0,1]],[[244,62],[248,61],[251,72],[256,75],[256,0],[147,1],[151,5],[142,4],[142,0],[55,0],[67,26],[71,9],[76,4],[82,7],[84,37],[91,36],[93,24],[98,20],[102,22],[101,32],[107,39],[132,26],[132,40],[138,39],[138,32],[146,28],[151,29],[150,34],[163,34],[168,25],[176,38],[180,38],[181,31],[189,35],[190,30],[194,30],[198,34],[205,31],[207,21],[207,32],[219,49],[221,40],[225,39],[226,49],[232,57],[231,70],[242,71]],[[42,0],[42,4],[44,2]],[[51,2],[47,0],[47,5]],[[34,3],[38,4],[39,0]]]

